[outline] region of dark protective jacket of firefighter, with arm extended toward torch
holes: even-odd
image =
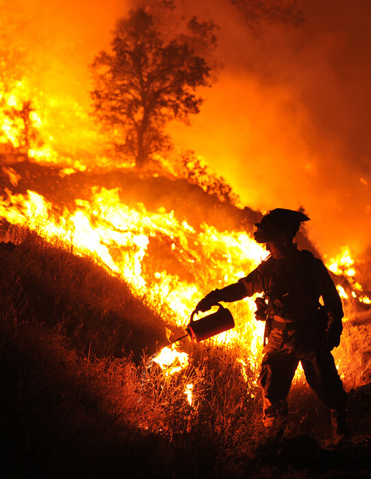
[[[270,256],[246,277],[214,290],[205,300],[232,302],[255,293],[264,293],[268,300],[267,336],[274,328],[285,329],[283,341],[290,339],[296,348],[310,349],[330,335],[329,349],[338,346],[342,302],[327,268],[309,251],[293,248],[285,258]]]

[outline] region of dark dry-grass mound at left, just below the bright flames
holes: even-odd
[[[78,258],[29,234],[14,250],[3,246],[0,281],[22,320],[57,329],[90,357],[142,357],[166,342],[164,322],[125,283],[88,258]],[[11,248],[11,246],[10,246]]]

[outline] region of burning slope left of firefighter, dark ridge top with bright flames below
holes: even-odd
[[[29,177],[27,186],[19,177],[21,170]],[[18,181],[10,193],[8,178],[2,203],[5,220],[35,229],[49,241],[62,241],[77,254],[93,255],[136,294],[153,305],[170,307],[177,318],[174,325],[185,326],[210,281],[217,286],[238,279],[266,256],[242,226],[257,213],[210,200],[201,188],[184,181],[145,181],[119,172],[61,178],[51,170],[49,183],[48,168],[18,164],[12,171]],[[175,209],[170,209],[172,202]],[[241,226],[220,232],[203,222],[204,216],[217,226]]]

